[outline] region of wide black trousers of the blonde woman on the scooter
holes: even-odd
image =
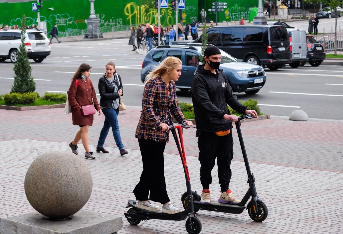
[[[137,200],[152,200],[161,204],[169,202],[164,178],[165,142],[138,139],[141,150],[143,171],[139,183],[133,190]],[[148,199],[150,191],[150,199]]]

